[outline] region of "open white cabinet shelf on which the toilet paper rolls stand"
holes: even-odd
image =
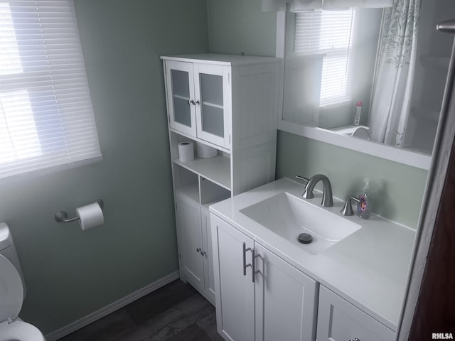
[[[173,163],[216,183],[226,190],[230,190],[230,158],[226,156],[195,158],[193,161],[186,162],[176,158]]]

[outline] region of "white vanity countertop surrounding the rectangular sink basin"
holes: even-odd
[[[303,185],[282,178],[210,205],[210,212],[396,331],[405,296],[414,230],[377,215],[371,215],[369,220],[354,215],[346,219],[362,228],[314,255],[303,250],[304,244],[284,239],[239,212],[282,192],[301,197],[303,190]],[[308,201],[320,206],[321,193],[315,191],[314,198]],[[343,202],[334,198],[333,207],[322,208],[341,215],[342,207]]]

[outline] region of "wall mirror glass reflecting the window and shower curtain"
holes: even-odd
[[[451,0],[288,13],[283,119],[430,154],[453,36]]]

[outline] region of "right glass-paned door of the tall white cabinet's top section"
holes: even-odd
[[[200,139],[230,147],[229,67],[195,65],[196,125]]]

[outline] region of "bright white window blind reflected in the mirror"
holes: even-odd
[[[324,55],[321,107],[351,101],[356,30],[358,16],[355,9],[296,14],[294,52]]]

